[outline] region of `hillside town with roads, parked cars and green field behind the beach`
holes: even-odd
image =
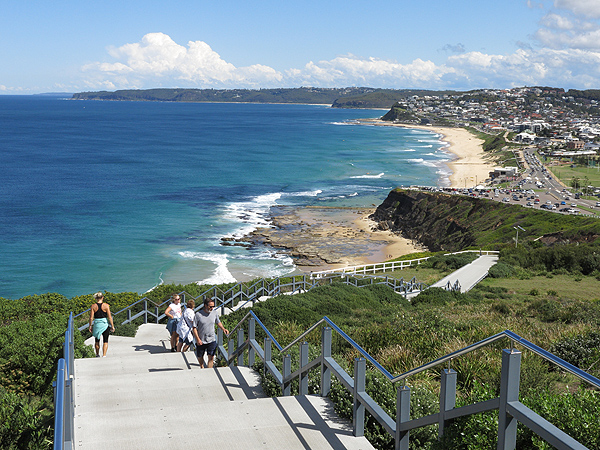
[[[600,103],[596,95],[600,98],[598,91],[522,87],[411,96],[397,102],[382,119],[428,128],[445,139],[456,134],[456,129],[470,130],[471,138],[481,138],[479,177],[473,176],[475,163],[467,169],[471,176],[460,176],[456,167],[465,157],[460,149],[468,143],[465,134],[458,143],[446,139],[449,150],[459,158],[450,164],[454,190],[463,188],[461,192],[477,195],[473,188],[485,186],[482,195],[498,201],[597,215]]]

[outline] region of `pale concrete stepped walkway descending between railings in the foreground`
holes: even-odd
[[[146,324],[111,336],[106,358],[75,360],[74,448],[373,448],[326,398],[268,398],[251,369],[200,369],[167,346],[165,326]]]

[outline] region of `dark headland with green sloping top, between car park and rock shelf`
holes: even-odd
[[[533,245],[540,249],[546,244],[571,242],[584,248],[584,243],[593,243],[600,236],[600,221],[591,217],[408,189],[391,191],[372,217],[380,229],[399,232],[432,251],[494,250],[513,243],[517,225],[526,230],[519,237],[535,239]]]

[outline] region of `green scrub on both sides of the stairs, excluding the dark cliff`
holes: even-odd
[[[514,249],[500,249],[501,262],[490,277],[468,294],[429,290],[412,302],[403,300],[384,286],[356,288],[335,284],[296,296],[279,296],[257,305],[255,313],[282,344],[287,344],[310,325],[327,315],[362,345],[384,367],[399,374],[443,354],[469,345],[509,328],[548,349],[566,361],[600,376],[600,325],[598,285],[600,270],[585,274],[590,254],[581,245],[536,247],[524,241]],[[533,256],[532,256],[533,255]],[[422,273],[445,273],[469,261],[469,255],[437,255],[419,267]],[[595,260],[595,254],[592,254]],[[561,262],[562,261],[562,262]],[[584,269],[582,271],[582,269]],[[227,288],[229,286],[222,286]],[[206,287],[164,285],[152,299],[160,304],[173,291],[199,295]],[[134,303],[135,293],[106,293],[116,310]],[[58,294],[29,296],[18,300],[0,299],[0,416],[7,424],[0,433],[2,448],[49,448],[52,436],[51,382],[61,354],[68,311],[85,310],[90,296],[68,299]],[[224,318],[232,327],[244,312]],[[118,322],[117,322],[118,323]],[[87,332],[86,332],[87,333]],[[117,333],[133,335],[135,326],[118,326]],[[76,357],[92,356],[83,345],[87,334],[76,333]],[[315,346],[318,333],[308,337]],[[314,349],[312,350],[314,351]],[[334,342],[336,360],[351,370],[355,353],[343,342]],[[297,350],[293,360],[297,361]],[[459,404],[497,395],[498,348],[482,350],[453,368],[459,372]],[[275,355],[274,361],[279,364]],[[257,366],[257,369],[260,369]],[[409,380],[413,390],[413,417],[434,412],[439,374],[423,373]],[[311,389],[318,386],[318,374],[311,374]],[[273,382],[263,380],[265,390],[277,393]],[[598,393],[580,386],[577,380],[556,372],[550,365],[528,355],[523,361],[523,401],[555,424],[576,436],[589,448],[598,448]],[[377,372],[369,370],[367,389],[390,414],[394,414],[395,388]],[[567,395],[571,393],[572,395]],[[342,415],[352,407],[344,388],[334,383],[331,398]],[[585,414],[574,414],[574,410]],[[570,411],[570,412],[569,412]],[[567,416],[565,416],[567,415]],[[413,448],[490,448],[495,440],[494,414],[474,416],[453,425],[444,443],[437,442],[435,429],[413,433]],[[469,430],[470,433],[465,433]],[[462,433],[461,433],[462,431]],[[473,433],[480,440],[470,442]],[[377,448],[390,448],[391,440],[367,419],[367,435]],[[527,430],[519,431],[519,448],[538,448]]]

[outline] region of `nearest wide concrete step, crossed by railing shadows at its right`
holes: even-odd
[[[96,433],[83,433],[89,421]],[[127,409],[78,414],[75,448],[370,450],[364,438],[337,418],[328,399],[277,397],[197,406],[187,398],[153,410]]]

